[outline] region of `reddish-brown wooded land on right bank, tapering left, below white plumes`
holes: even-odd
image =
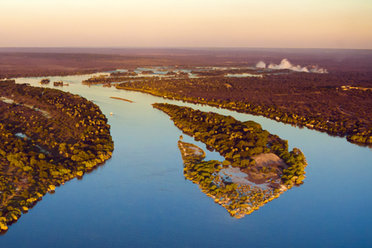
[[[372,84],[367,76],[349,76],[281,70],[262,77],[147,78],[116,87],[261,115],[372,145]]]

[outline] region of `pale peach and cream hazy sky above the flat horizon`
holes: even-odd
[[[0,0],[0,47],[372,49],[372,0]]]

